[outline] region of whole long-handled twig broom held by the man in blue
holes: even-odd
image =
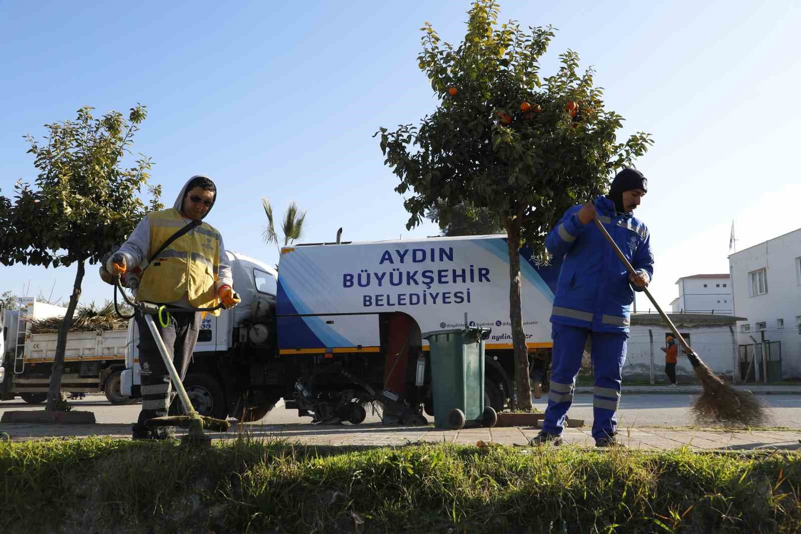
[[[629,260],[620,251],[618,244],[614,242],[614,239],[612,239],[603,227],[601,221],[598,220],[597,217],[594,221],[598,230],[606,237],[606,241],[609,241],[612,249],[614,249],[614,253],[617,254],[620,261],[623,262],[623,265],[626,265],[626,270],[630,274],[635,274],[636,271],[634,271],[634,267],[631,266]],[[654,297],[650,294],[648,289],[643,288],[642,291],[646,293],[651,304],[654,305],[659,315],[662,316],[662,319],[667,323],[670,331],[673,332],[678,342],[681,343],[684,352],[687,354],[687,358],[693,366],[695,376],[701,381],[703,392],[693,405],[695,419],[702,423],[740,424],[747,427],[753,427],[764,423],[767,419],[764,406],[754,397],[754,394],[748,390],[737,390],[718,378],[718,376],[702,362],[698,353],[690,348],[684,338],[682,338],[682,334],[678,333],[673,322],[670,321],[670,318],[662,311],[662,308],[656,303],[656,300],[654,300]]]

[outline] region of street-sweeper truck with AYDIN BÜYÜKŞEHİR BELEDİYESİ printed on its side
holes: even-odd
[[[548,389],[558,269],[520,253],[529,372],[539,392]],[[184,380],[203,415],[256,420],[282,398],[315,422],[360,423],[364,403],[376,399],[401,419],[418,407],[433,415],[421,334],[465,325],[492,329],[485,403],[500,411],[513,398],[505,236],[295,245],[281,250],[277,271],[239,253],[227,257],[242,302],[203,319]],[[132,397],[137,338],[131,322],[122,392]]]

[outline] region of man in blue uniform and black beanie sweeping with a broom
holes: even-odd
[[[593,431],[597,447],[615,439],[630,305],[654,276],[654,254],[646,225],[634,217],[648,181],[642,172],[625,168],[614,177],[609,193],[567,210],[545,238],[554,258],[564,258],[553,299],[553,325],[548,408],[542,431],[531,444],[562,443],[567,411],[588,336],[595,374]],[[601,231],[598,219],[634,266],[629,275]]]

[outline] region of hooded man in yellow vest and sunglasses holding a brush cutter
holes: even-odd
[[[142,270],[137,301],[166,304],[171,308],[212,308],[218,303],[230,308],[239,302],[233,290],[231,265],[223,247],[223,237],[203,222],[217,197],[217,188],[207,176],[192,176],[181,189],[175,205],[148,213],[131,237],[109,257],[106,269],[121,276],[127,269]],[[166,247],[164,243],[179,230],[188,230]],[[151,259],[152,258],[152,259]],[[218,315],[219,309],[211,314]],[[142,376],[142,411],[132,428],[134,439],[169,439],[168,427],[149,430],[147,419],[167,415],[171,383],[167,367],[141,314],[139,326],[139,366]],[[167,326],[156,321],[167,352],[181,379],[195,351],[201,312],[171,312]]]

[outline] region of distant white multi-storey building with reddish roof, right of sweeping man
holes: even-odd
[[[676,281],[678,298],[670,302],[674,314],[734,315],[728,274],[694,274]]]

